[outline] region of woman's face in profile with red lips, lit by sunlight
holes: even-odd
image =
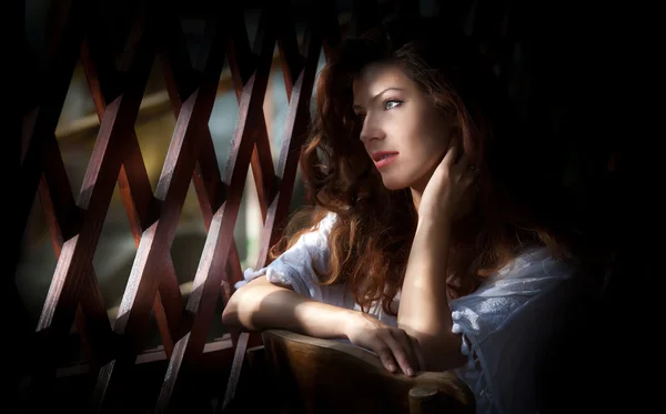
[[[389,190],[423,191],[450,145],[453,119],[391,63],[366,65],[354,79],[361,141]]]

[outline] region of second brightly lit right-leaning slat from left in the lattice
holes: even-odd
[[[222,41],[220,34],[222,31],[219,27],[216,29],[219,32],[211,46],[212,50],[218,50]],[[222,53],[210,54],[205,71],[200,78],[199,88],[183,101],[181,107],[155,191],[155,198],[161,203],[160,218],[143,232],[128,281],[128,289],[113,326],[114,331],[127,341],[127,349],[102,370],[94,396],[95,410],[105,410],[103,404],[111,404],[114,398],[118,402],[113,392],[119,388],[113,387],[111,394],[105,395],[109,385],[120,381],[125,370],[133,364],[139,352],[140,341],[138,339],[141,336],[140,331],[150,317],[150,304],[152,304],[158,289],[158,277],[163,269],[164,255],[170,251],[175,235],[185,194],[201,149],[200,125],[205,125],[210,118],[222,60]],[[174,355],[179,352],[174,349]]]

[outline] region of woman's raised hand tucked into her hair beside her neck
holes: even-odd
[[[421,196],[420,218],[433,214],[455,220],[470,209],[472,194],[467,190],[477,173],[466,154],[457,158],[457,148],[451,147],[433,172]]]

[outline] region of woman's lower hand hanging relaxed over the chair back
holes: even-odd
[[[405,331],[392,327],[365,313],[355,312],[345,327],[347,339],[357,346],[373,351],[386,370],[397,367],[408,376],[425,371],[425,360],[416,339]]]

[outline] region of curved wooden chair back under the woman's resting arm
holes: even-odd
[[[387,372],[372,353],[347,343],[269,330],[248,357],[263,407],[294,414],[472,414],[472,391],[451,372],[408,377]],[[259,352],[258,352],[259,351]],[[269,397],[270,395],[270,397]],[[255,401],[255,403],[258,403]],[[262,402],[259,402],[262,403]]]

